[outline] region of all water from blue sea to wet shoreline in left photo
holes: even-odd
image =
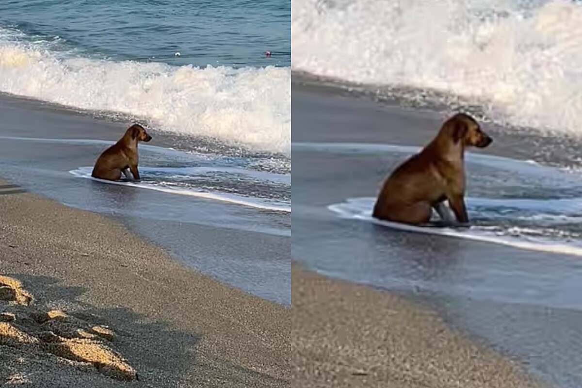
[[[290,304],[290,19],[284,0],[0,2],[2,177]],[[133,122],[142,180],[95,184]]]

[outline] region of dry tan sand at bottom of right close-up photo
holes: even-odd
[[[540,387],[519,366],[403,298],[292,266],[300,387]]]

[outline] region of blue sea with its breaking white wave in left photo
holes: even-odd
[[[289,19],[285,1],[4,1],[0,91],[285,155]]]

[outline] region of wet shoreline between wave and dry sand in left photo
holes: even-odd
[[[118,140],[125,124],[5,94],[0,94],[0,115],[3,179],[69,207],[111,217],[194,270],[262,298],[290,305],[289,213],[74,176],[71,170],[93,166],[104,149],[101,143]],[[152,184],[169,181],[180,187],[183,180],[188,187],[197,184],[204,187],[217,180],[221,187],[217,192],[234,190],[233,193],[241,195],[249,193],[250,198],[253,190],[269,187],[262,187],[262,181],[253,186],[249,178],[253,171],[242,167],[248,155],[228,156],[235,152],[233,149],[208,158],[197,151],[192,154],[173,151],[172,147],[204,148],[207,144],[204,141],[198,144],[197,138],[161,132],[154,133],[150,143],[140,149],[140,166],[151,170]],[[248,160],[262,161],[262,157],[249,156]],[[189,176],[189,168],[196,170],[197,166],[209,172]],[[243,175],[242,181],[233,179],[236,175],[221,173],[225,166],[239,166],[248,175]],[[175,169],[177,177],[164,169]],[[285,190],[284,186],[275,191]],[[290,197],[289,188],[286,190]]]

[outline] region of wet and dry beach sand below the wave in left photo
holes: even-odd
[[[84,362],[80,350],[54,350],[89,341],[125,359],[139,386],[289,386],[288,212],[73,175],[127,124],[0,100],[0,187],[9,187],[0,195],[0,274],[34,296],[30,307],[2,305],[15,314],[3,323],[8,336],[19,330],[25,339],[2,338],[2,381],[126,384]],[[154,147],[140,148],[142,171],[216,162],[193,161],[171,148],[176,137],[151,133]],[[68,318],[38,319],[54,310]],[[94,339],[95,325],[115,341]]]

